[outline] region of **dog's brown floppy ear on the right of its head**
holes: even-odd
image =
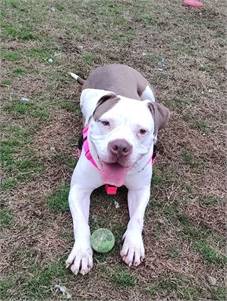
[[[159,130],[166,127],[170,117],[170,111],[167,107],[158,102],[150,102],[148,108],[154,118],[154,133],[157,135]]]

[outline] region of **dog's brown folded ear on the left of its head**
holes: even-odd
[[[109,111],[115,104],[120,100],[116,94],[107,94],[101,97],[97,103],[97,106],[94,110],[93,117],[98,120],[104,113]]]

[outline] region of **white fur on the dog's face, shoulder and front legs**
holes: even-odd
[[[154,123],[147,108],[147,101],[139,102],[120,97],[120,101],[102,115],[102,118],[112,120],[113,128],[108,130],[102,128],[102,125],[95,122],[91,116],[98,100],[108,93],[104,90],[83,90],[80,101],[81,110],[85,123],[89,122],[88,142],[96,162],[98,162],[98,158],[108,156],[107,145],[111,140],[124,138],[133,146],[130,159],[131,169],[124,183],[128,188],[130,220],[123,236],[124,244],[120,254],[126,264],[137,266],[145,256],[142,229],[144,213],[150,197],[152,165],[149,160],[153,152]],[[148,101],[153,101],[153,96],[150,95],[150,97],[151,99],[148,98]],[[138,137],[136,135],[137,127],[146,128],[147,136]],[[71,270],[75,274],[79,272],[86,274],[93,266],[88,225],[90,195],[101,185],[103,182],[99,170],[87,160],[82,151],[72,175],[69,193],[75,243],[66,265],[67,267],[71,266]]]

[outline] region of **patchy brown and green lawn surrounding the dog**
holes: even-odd
[[[225,1],[1,1],[0,300],[225,300]],[[146,211],[146,260],[119,255],[126,190],[92,195],[92,230],[114,249],[65,268],[80,86],[96,66],[139,70],[171,110]],[[115,202],[119,203],[116,208]],[[56,287],[57,285],[57,287]]]

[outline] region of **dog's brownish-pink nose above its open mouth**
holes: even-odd
[[[132,145],[124,139],[116,139],[108,144],[108,150],[117,157],[126,157],[132,152]]]

